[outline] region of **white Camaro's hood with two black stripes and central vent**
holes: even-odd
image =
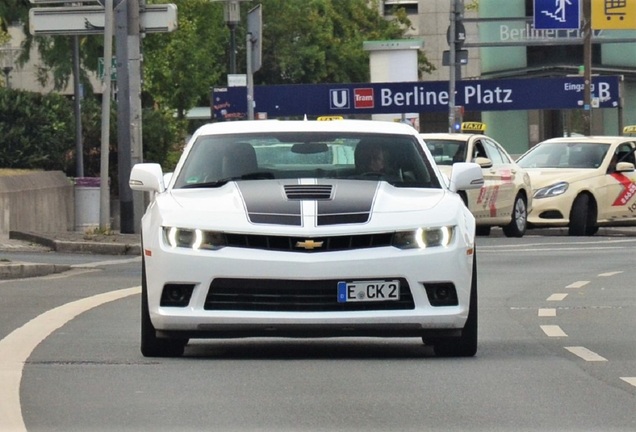
[[[162,223],[206,229],[273,231],[395,229],[447,224],[461,200],[444,189],[400,188],[383,181],[258,180],[216,188],[172,189],[157,196]],[[439,208],[448,206],[448,209]],[[433,211],[435,209],[435,211]],[[426,219],[423,219],[423,213]],[[259,228],[260,227],[260,228]],[[278,227],[278,228],[275,228]]]

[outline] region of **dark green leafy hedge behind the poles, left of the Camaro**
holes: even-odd
[[[101,172],[101,102],[82,100],[83,170],[85,177]],[[117,106],[111,104],[109,178],[118,185]],[[185,124],[165,111],[142,112],[144,161],[173,169],[181,154]],[[59,94],[0,88],[0,168],[63,171],[76,177],[73,101]]]

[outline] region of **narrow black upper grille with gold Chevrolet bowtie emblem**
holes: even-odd
[[[360,234],[334,237],[269,236],[255,234],[225,234],[226,245],[238,248],[289,252],[332,252],[391,246],[393,233]]]

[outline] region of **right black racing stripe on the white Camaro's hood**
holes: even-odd
[[[324,182],[319,182],[319,184]],[[318,225],[365,223],[378,190],[375,181],[341,181],[334,184],[333,198],[318,201]]]

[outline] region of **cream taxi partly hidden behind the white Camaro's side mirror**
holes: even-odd
[[[464,122],[461,133],[420,134],[442,172],[451,172],[456,162],[476,162],[482,168],[484,185],[468,190],[463,198],[477,221],[477,234],[489,235],[501,227],[507,237],[522,237],[532,206],[530,178],[506,150],[484,134],[486,125]]]

